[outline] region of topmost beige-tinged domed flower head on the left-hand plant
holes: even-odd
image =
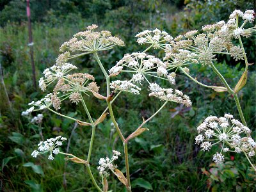
[[[98,26],[93,24],[88,26],[86,31],[81,31],[74,35],[74,38],[70,39],[61,45],[60,51],[83,51],[91,53],[95,51],[105,51],[111,49],[115,45],[124,46],[124,42],[116,36],[111,36],[110,31],[93,31]]]

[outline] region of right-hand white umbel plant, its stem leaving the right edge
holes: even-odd
[[[209,151],[212,145],[222,145],[220,153],[217,152],[212,158],[215,163],[223,163],[223,152],[242,152],[252,166],[252,169],[256,172],[256,166],[252,163],[252,157],[255,156],[256,152],[255,138],[252,138],[252,131],[246,125],[238,98],[238,93],[246,84],[248,67],[250,65],[244,51],[243,38],[250,38],[250,36],[255,34],[256,26],[247,27],[254,19],[255,12],[253,10],[246,10],[244,13],[240,10],[235,10],[230,14],[227,22],[221,20],[216,24],[205,25],[202,28],[202,33],[192,30],[175,38],[168,37],[165,45],[159,44],[154,47],[163,49],[165,52],[166,72],[170,72],[170,70],[177,72],[177,70],[180,70],[189,79],[205,88],[211,88],[216,92],[228,92],[230,95],[233,95],[242,123],[228,114],[220,118],[209,116],[198,126],[198,136],[196,136],[195,141],[196,144],[201,143],[200,148],[204,151]],[[152,36],[151,33],[152,31],[143,31],[143,33],[138,35],[137,42],[139,44],[147,44],[148,41],[145,38],[141,40],[141,36],[150,37]],[[156,44],[154,41],[151,42]],[[236,61],[244,61],[244,72],[236,85],[228,84],[225,77],[214,66],[214,61],[217,60],[216,56],[218,54],[227,54]],[[220,77],[223,86],[200,83],[198,79],[190,74],[188,68],[190,65],[202,65],[211,68]],[[234,88],[231,88],[232,86]]]

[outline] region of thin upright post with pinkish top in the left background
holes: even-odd
[[[36,72],[35,72],[35,62],[34,62],[34,51],[33,51],[33,38],[32,38],[32,29],[31,29],[31,21],[30,21],[30,7],[29,0],[27,0],[27,16],[28,16],[28,35],[29,35],[29,48],[30,48],[30,59],[31,59],[31,67],[33,73],[33,85],[36,90]]]

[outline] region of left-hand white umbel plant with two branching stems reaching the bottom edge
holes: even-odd
[[[94,24],[92,26],[88,26],[87,29],[88,30],[86,31],[81,31],[75,34],[72,39],[61,45],[60,51],[63,53],[61,53],[56,59],[56,64],[44,70],[44,77],[41,77],[39,80],[40,89],[45,92],[53,86],[51,92],[45,95],[43,99],[30,102],[30,108],[27,111],[24,111],[24,113],[28,115],[33,111],[42,111],[47,109],[52,113],[63,116],[64,118],[74,120],[80,125],[92,127],[92,136],[87,159],[84,160],[74,156],[74,154],[61,152],[59,147],[62,145],[62,141],[66,139],[60,136],[47,139],[46,141],[41,141],[38,144],[38,150],[34,150],[31,156],[37,157],[47,153],[48,159],[53,160],[54,156],[63,154],[67,156],[65,158],[67,161],[73,161],[74,163],[80,163],[86,166],[95,188],[99,191],[108,191],[109,171],[116,175],[117,179],[120,180],[120,182],[122,182],[122,184],[127,188],[127,191],[131,191],[128,158],[129,140],[132,140],[132,138],[135,138],[144,131],[147,131],[148,129],[147,127],[144,127],[144,125],[154,118],[154,116],[156,116],[161,109],[166,106],[166,104],[174,102],[184,104],[189,107],[192,102],[188,95],[185,95],[175,88],[170,88],[170,86],[173,87],[173,85],[175,85],[175,73],[168,72],[167,64],[161,59],[156,58],[156,56],[147,54],[147,51],[151,47],[158,49],[159,47],[163,47],[163,43],[166,42],[166,40],[171,40],[168,33],[156,29],[152,31],[152,36],[140,34],[140,42],[142,42],[142,38],[145,38],[143,43],[150,44],[150,47],[142,52],[125,54],[124,58],[118,61],[115,66],[110,69],[106,69],[104,65],[102,65],[97,52],[113,49],[115,46],[124,46],[124,42],[120,40],[120,38],[112,36],[109,31],[95,31],[97,26]],[[97,86],[97,83],[95,83],[95,78],[91,74],[72,73],[72,71],[76,70],[77,67],[68,62],[74,58],[83,56],[84,54],[92,54],[93,58],[97,61],[102,74],[106,78],[105,93],[99,93],[100,88]],[[122,77],[122,75],[126,73],[131,74],[131,78],[125,79]],[[118,77],[119,79],[114,80],[113,77]],[[161,87],[157,84],[157,79],[166,80],[169,83],[168,87]],[[115,120],[112,104],[121,93],[140,95],[142,89],[148,90],[148,97],[156,97],[159,100],[163,100],[163,105],[147,120],[144,120],[143,118],[143,122],[134,130],[134,132],[125,136],[123,133],[124,129],[119,127]],[[86,105],[89,97],[92,96],[106,102],[106,109],[102,111],[102,115],[96,118],[91,115],[92,111],[89,111]],[[65,100],[68,100],[74,105],[83,106],[87,116],[83,119],[77,119],[62,114],[60,111],[61,108],[63,108],[63,101]],[[93,152],[93,140],[95,137],[96,127],[106,118],[108,112],[112,120],[113,127],[115,127],[116,132],[118,132],[118,136],[124,145],[123,154],[125,159],[125,175],[118,170],[118,166],[116,164],[113,164],[113,161],[118,159],[118,156],[121,156],[120,152],[113,150],[113,156],[111,159],[106,157],[105,159],[101,158],[99,160],[98,170],[99,175],[102,178],[102,187],[100,187],[99,182],[95,180],[91,171],[90,160]]]

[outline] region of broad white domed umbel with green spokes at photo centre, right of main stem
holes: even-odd
[[[134,83],[141,83],[141,81],[144,81],[145,79],[149,82],[149,77],[157,77],[170,81],[171,84],[175,84],[175,76],[168,73],[166,63],[159,60],[159,58],[147,55],[144,52],[125,54],[122,60],[118,61],[114,67],[109,69],[109,74],[116,76],[122,72],[124,67],[129,69],[124,70],[124,72],[135,73],[132,75],[131,79]]]

